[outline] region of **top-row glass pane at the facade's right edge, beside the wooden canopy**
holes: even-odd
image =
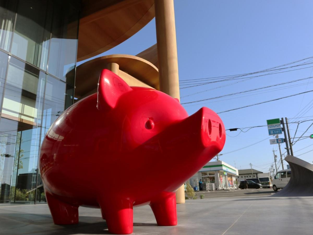
[[[48,71],[74,86],[78,11],[71,6],[58,8],[52,22]]]

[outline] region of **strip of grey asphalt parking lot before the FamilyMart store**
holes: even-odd
[[[231,190],[218,190],[218,191],[198,191],[196,192],[197,198],[203,194],[204,198],[214,197],[246,197],[246,196],[269,196],[276,192],[272,188],[262,189],[231,189]]]

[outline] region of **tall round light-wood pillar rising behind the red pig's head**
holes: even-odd
[[[160,91],[179,99],[174,1],[156,0],[154,6]],[[185,203],[184,185],[176,191],[176,202]]]

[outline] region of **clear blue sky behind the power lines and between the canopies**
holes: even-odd
[[[174,5],[180,81],[249,73],[313,56],[312,1],[176,0]],[[155,20],[153,19],[133,37],[101,55],[136,55],[155,43],[156,32]],[[181,102],[226,95],[309,76],[313,76],[313,68],[261,76],[188,97],[184,96],[231,82],[181,89]],[[276,89],[266,93],[261,90],[261,92],[249,94],[249,96],[243,94],[241,96],[244,97],[225,97],[207,102],[186,104],[184,107],[189,114],[196,112],[202,106],[220,112],[310,91],[313,90],[312,82],[313,78],[276,87],[285,88],[281,90]],[[293,86],[285,87],[288,85]],[[294,118],[290,121],[310,120],[313,119],[312,100],[313,92],[310,92],[221,113],[220,117],[226,129],[266,125],[267,119],[294,118],[301,112],[302,115],[299,117],[312,117]],[[303,108],[305,109],[301,111]],[[312,122],[301,123],[296,137],[300,137]],[[296,126],[296,124],[290,125],[291,136],[294,136]],[[222,154],[269,137],[267,127],[253,128],[246,133],[239,131],[227,131],[226,133],[228,136]],[[304,136],[308,136],[310,133],[313,133],[313,125]],[[249,163],[252,163],[254,169],[268,172],[270,164],[274,162],[273,148],[278,150],[278,145],[270,145],[269,139],[266,139],[251,147],[224,154],[221,159],[230,165],[234,165],[235,161],[238,169],[249,168]],[[285,152],[284,148],[285,145],[282,145],[283,153]],[[295,156],[302,154],[299,158],[312,163],[313,151],[308,151],[313,150],[313,139],[300,140],[293,148]],[[308,153],[303,154],[305,152]],[[279,156],[279,151],[276,151],[275,154]],[[287,162],[284,161],[285,167],[286,164]]]

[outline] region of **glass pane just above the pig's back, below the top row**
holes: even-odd
[[[43,136],[47,133],[51,124],[64,111],[66,96],[65,87],[65,82],[47,76],[43,112]]]

